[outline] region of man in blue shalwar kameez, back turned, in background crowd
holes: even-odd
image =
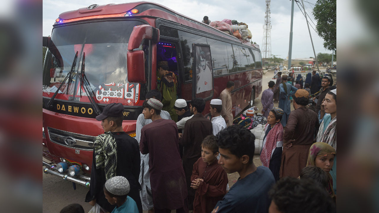
[[[288,116],[291,113],[290,96],[292,96],[296,90],[298,90],[298,88],[287,83],[287,75],[283,75],[282,83],[279,85],[279,108],[284,111],[282,120],[280,121],[283,127],[287,124]]]

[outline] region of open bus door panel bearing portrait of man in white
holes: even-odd
[[[193,72],[192,97],[200,97],[205,101],[213,97],[213,66],[211,50],[208,44],[192,44]]]

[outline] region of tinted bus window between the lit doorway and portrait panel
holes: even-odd
[[[182,45],[183,50],[183,66],[184,66],[184,80],[190,81],[192,80],[192,44],[207,44],[207,39],[202,36],[198,36],[195,34],[187,33],[184,31],[178,30],[180,44]]]

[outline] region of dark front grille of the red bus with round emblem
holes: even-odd
[[[78,133],[66,132],[55,128],[47,127],[50,141],[61,146],[73,149],[93,150],[94,136],[81,135]],[[65,142],[66,140],[66,142]],[[75,141],[75,142],[74,142]],[[74,142],[74,143],[73,143]]]

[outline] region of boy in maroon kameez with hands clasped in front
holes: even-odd
[[[201,157],[193,165],[191,188],[196,190],[193,213],[210,213],[226,194],[228,176],[217,163],[216,136],[209,135],[201,144]]]

